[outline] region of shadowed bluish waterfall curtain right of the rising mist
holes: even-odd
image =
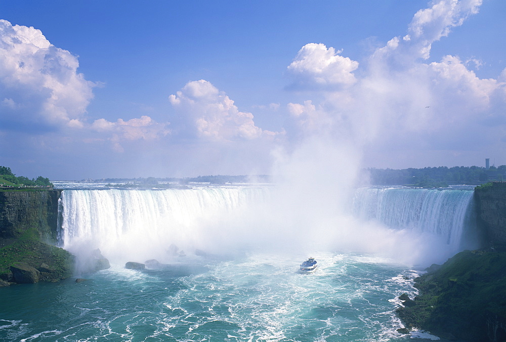
[[[473,194],[470,190],[360,188],[353,209],[364,220],[431,234],[458,251],[468,242],[462,236],[475,225]]]

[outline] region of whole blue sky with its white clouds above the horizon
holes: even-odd
[[[506,164],[501,0],[18,0],[0,19],[17,175]]]

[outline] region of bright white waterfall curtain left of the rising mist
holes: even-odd
[[[76,254],[100,248],[109,258],[163,259],[171,248],[219,244],[227,218],[262,202],[268,188],[64,190],[59,244]],[[170,247],[170,246],[173,247]]]

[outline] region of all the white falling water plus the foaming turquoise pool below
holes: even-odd
[[[298,212],[279,212],[292,218],[289,229],[274,217],[283,207],[274,192],[255,186],[64,190],[60,244],[78,258],[99,248],[112,267],[80,274],[88,279],[81,283],[35,284],[36,293],[32,287],[5,289],[5,300],[18,310],[0,313],[0,336],[407,341],[413,335],[397,332],[403,327],[395,315],[397,297],[415,295],[412,279],[420,268],[382,249],[412,239],[420,266],[426,254],[463,248],[472,230],[472,191],[358,189],[349,202],[353,219],[315,218],[307,226]],[[442,251],[427,249],[422,239]],[[308,257],[318,260],[318,270],[299,274]],[[142,271],[124,268],[152,259],[158,264]],[[30,310],[34,301],[44,306]]]

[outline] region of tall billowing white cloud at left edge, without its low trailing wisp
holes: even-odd
[[[9,111],[4,129],[78,126],[95,83],[77,72],[77,58],[53,46],[40,30],[0,20],[0,92]]]

